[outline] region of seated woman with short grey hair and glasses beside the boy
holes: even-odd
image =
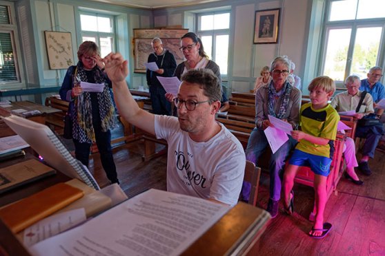
[[[258,164],[259,157],[268,148],[268,140],[264,130],[273,127],[268,116],[273,116],[290,123],[293,129],[297,129],[299,121],[299,107],[301,104],[301,92],[288,83],[287,77],[290,69],[288,58],[279,56],[270,65],[272,81],[260,87],[255,94],[255,128],[250,134],[246,148],[246,159]],[[267,211],[272,217],[278,214],[278,202],[281,197],[282,171],[289,151],[293,149],[296,140],[288,136],[288,141],[282,145],[270,157],[270,199]],[[244,183],[241,198],[248,200],[250,184]]]

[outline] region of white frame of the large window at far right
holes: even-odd
[[[350,20],[344,20],[344,21],[329,21],[331,6],[334,1],[338,1],[338,0],[328,0],[328,3],[325,8],[326,19],[324,20],[324,26],[323,26],[324,28],[322,30],[323,46],[320,48],[320,54],[319,54],[321,59],[321,63],[319,65],[319,74],[324,75],[324,69],[326,64],[325,61],[326,61],[326,54],[327,54],[326,51],[328,46],[327,43],[328,43],[328,36],[329,36],[330,30],[344,29],[344,28],[351,29],[351,38],[348,46],[348,56],[346,57],[344,77],[346,78],[348,75],[350,75],[351,65],[353,63],[355,37],[357,34],[357,29],[359,28],[374,28],[374,27],[382,28],[382,34],[379,39],[379,50],[377,53],[376,65],[384,68],[385,47],[383,44],[385,43],[385,17],[372,18],[372,19],[350,19]],[[359,1],[362,1],[362,0],[359,0]],[[358,3],[357,3],[357,8],[358,8]],[[357,15],[357,9],[356,9],[356,15]],[[363,78],[366,78],[366,77],[363,77]],[[345,89],[344,81],[335,81],[335,84],[337,85],[338,89]]]

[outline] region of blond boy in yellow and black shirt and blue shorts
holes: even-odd
[[[339,115],[328,104],[335,92],[335,83],[328,76],[319,76],[308,87],[310,103],[302,105],[299,122],[302,131],[292,131],[292,136],[299,143],[284,172],[284,206],[288,214],[293,214],[293,184],[299,167],[310,167],[315,173],[315,223],[309,235],[314,238],[325,237],[332,225],[324,223],[326,204],[326,178],[330,173],[330,164],[334,153],[334,140],[337,136]]]

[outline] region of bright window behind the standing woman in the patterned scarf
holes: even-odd
[[[97,43],[101,57],[115,51],[114,17],[81,12],[81,39]]]

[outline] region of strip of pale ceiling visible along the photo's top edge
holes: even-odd
[[[136,8],[168,8],[177,6],[189,6],[198,3],[209,3],[221,0],[92,0],[102,3],[111,3],[118,6],[128,6]]]

